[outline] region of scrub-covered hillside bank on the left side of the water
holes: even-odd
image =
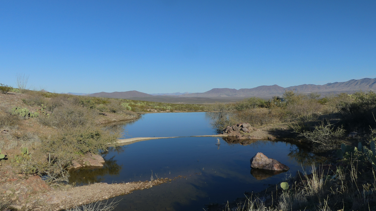
[[[14,112],[15,108],[27,112],[18,115]],[[0,190],[4,192],[0,210],[9,208],[11,204],[30,207],[33,205],[27,203],[33,196],[38,198],[39,195],[44,196],[45,191],[55,194],[60,189],[63,192],[69,189],[69,185],[65,184],[71,161],[87,153],[100,154],[119,137],[120,128],[104,127],[105,123],[136,119],[139,116],[137,112],[150,110],[191,112],[204,111],[206,106],[75,96],[27,89],[20,92],[13,88],[0,94],[0,149],[1,154],[6,155],[0,159]],[[21,152],[25,147],[27,153]],[[43,177],[55,190],[37,188],[38,191],[35,191],[27,187],[30,185],[27,178],[35,178],[33,176]],[[45,182],[37,183],[44,187]],[[17,186],[18,183],[21,185]],[[85,196],[83,194],[82,197]]]

